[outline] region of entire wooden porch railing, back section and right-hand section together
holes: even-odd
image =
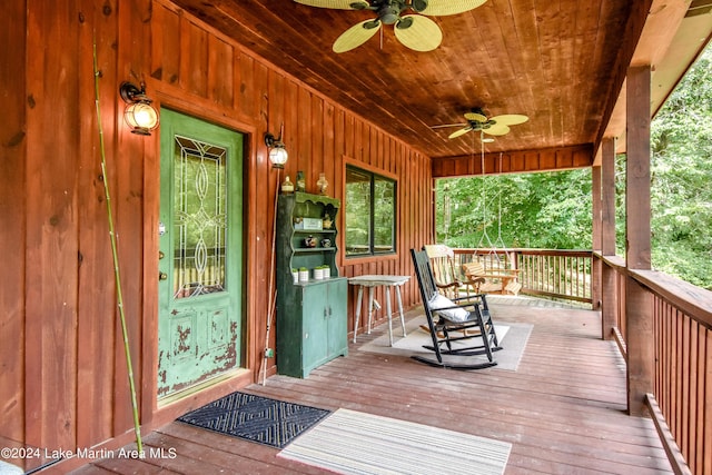
[[[657,271],[631,270],[617,256],[587,250],[455,249],[456,264],[481,260],[487,269],[517,268],[522,293],[592,303],[593,283],[612,274],[600,298],[614,314],[611,333],[627,359],[626,281],[651,298],[653,383],[645,405],[676,474],[712,474],[712,291]],[[600,261],[594,266],[594,259]],[[597,271],[597,270],[596,270]],[[599,297],[596,297],[597,299]],[[606,317],[604,317],[605,319]],[[609,335],[605,335],[606,337]]]

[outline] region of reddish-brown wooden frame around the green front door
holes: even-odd
[[[192,394],[176,400],[161,400],[159,404],[158,390],[158,222],[160,211],[160,131],[155,131],[149,139],[141,137],[138,139],[136,148],[145,149],[144,166],[144,305],[140,334],[142,335],[141,348],[141,386],[140,386],[140,416],[141,426],[145,431],[157,428],[177,418],[186,412],[200,407],[225,396],[231,392],[248,386],[256,380],[255,362],[258,353],[258,342],[256,338],[256,310],[255,291],[256,286],[248,276],[255,275],[256,250],[254,246],[248,246],[248,239],[255,235],[255,180],[250,179],[256,174],[256,156],[258,140],[255,139],[257,128],[248,118],[236,113],[234,109],[219,108],[215,102],[202,98],[191,98],[186,100],[186,96],[180,97],[161,88],[162,82],[147,80],[148,87],[154,92],[154,106],[172,109],[180,113],[186,113],[197,119],[206,120],[244,135],[243,140],[243,360],[244,368],[237,369],[235,374],[225,380],[216,382],[214,385],[197,388]],[[182,93],[182,91],[177,91]],[[131,136],[132,137],[132,136]],[[137,352],[138,348],[132,349]],[[127,441],[130,436],[127,438]]]

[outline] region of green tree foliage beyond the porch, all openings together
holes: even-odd
[[[712,48],[653,120],[651,148],[653,267],[712,288]],[[624,156],[615,177],[624,255]],[[453,247],[591,248],[591,170],[438,180],[436,235]]]

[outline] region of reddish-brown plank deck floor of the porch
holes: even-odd
[[[386,330],[382,325],[359,335],[348,357],[306,379],[275,376],[245,392],[506,441],[507,475],[671,473],[652,422],[625,414],[625,363],[613,343],[600,339],[599,313],[512,299],[493,301],[492,310],[495,321],[534,325],[516,372],[443,370],[359,350]],[[172,448],[177,456],[96,461],[76,473],[326,473],[278,458],[278,449],[180,423],[149,434],[145,444]]]

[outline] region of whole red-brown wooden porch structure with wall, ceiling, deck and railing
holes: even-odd
[[[415,60],[394,49],[388,36],[387,53],[372,44],[350,61],[336,59],[330,40],[337,31],[327,27],[338,23],[342,31],[355,19],[312,12],[291,1],[279,10],[268,1],[69,3],[8,2],[12,21],[6,21],[3,38],[9,53],[0,68],[7,71],[9,91],[1,201],[12,206],[3,207],[0,241],[18,250],[8,254],[6,265],[7,281],[17,285],[0,294],[0,323],[3,335],[11,336],[0,346],[0,436],[50,451],[115,449],[130,444],[139,419],[145,443],[176,448],[175,458],[75,458],[50,471],[319,473],[285,463],[276,449],[171,422],[239,389],[510,442],[507,473],[685,473],[685,462],[693,473],[710,472],[710,293],[650,270],[649,216],[629,212],[625,260],[615,256],[612,235],[614,157],[626,151],[636,171],[627,184],[629,208],[647,209],[649,119],[709,42],[709,2],[568,1],[535,8],[525,1],[491,1],[477,11],[482,14],[462,17],[468,20],[462,28],[455,24],[462,18],[442,20],[451,23],[445,30],[452,39],[442,56],[431,55],[429,66],[425,56]],[[590,26],[573,28],[574,20]],[[300,28],[305,24],[318,28]],[[471,48],[473,37],[458,31],[482,32],[497,55]],[[513,38],[521,44],[512,44]],[[560,44],[558,38],[565,40]],[[681,55],[680,43],[694,46]],[[555,61],[540,61],[540,51]],[[463,61],[465,52],[476,58]],[[443,58],[449,58],[449,82],[441,81]],[[92,71],[92,59],[99,71]],[[472,68],[463,70],[465,63]],[[574,63],[576,71],[571,71],[567,66]],[[540,72],[531,81],[518,80],[532,68]],[[354,71],[369,73],[355,80]],[[433,78],[418,80],[414,89],[411,79],[423,71]],[[245,257],[237,269],[244,276],[238,286],[243,298],[234,306],[244,325],[239,338],[231,339],[239,343],[240,360],[218,383],[170,400],[158,390],[157,270],[165,250],[160,132],[138,136],[123,126],[118,95],[123,81],[145,85],[155,106],[245,140],[239,176],[244,226],[236,229],[244,239],[236,246]],[[398,83],[398,93],[383,87],[386,82]],[[515,85],[522,86],[518,93],[512,90]],[[449,91],[459,92],[451,97]],[[478,168],[469,141],[448,140],[433,126],[462,120],[466,108],[483,102],[494,117],[526,112],[532,128],[523,126],[491,146]],[[109,174],[99,166],[98,125],[107,138]],[[324,171],[332,196],[342,200],[348,165],[398,182],[396,251],[363,258],[340,253],[342,277],[412,275],[408,249],[434,241],[434,179],[592,167],[594,245],[574,253],[583,269],[563,266],[571,280],[546,280],[544,258],[560,259],[547,250],[522,253],[518,265],[523,280],[532,277],[524,291],[561,291],[593,309],[495,304],[498,321],[533,325],[516,370],[438,370],[407,356],[360,350],[374,334],[359,336],[347,357],[308,378],[277,375],[276,359],[266,350],[275,347],[275,334],[269,333],[273,295],[265,291],[265,269],[274,265],[271,197],[279,175],[270,168],[265,137],[281,137],[281,125],[293,154],[285,175],[303,170],[314,184]],[[506,168],[493,168],[502,156]],[[105,182],[116,189],[121,293],[113,287]],[[530,256],[541,257],[526,260]],[[582,295],[555,288],[575,276],[584,276],[575,287]],[[533,283],[548,287],[536,289]],[[414,279],[403,290],[414,317]],[[120,329],[119,306],[129,315],[128,338]],[[378,317],[383,323],[384,315]],[[134,355],[132,369],[127,354]],[[258,384],[263,364],[265,386]],[[127,385],[129,374],[136,392]]]

